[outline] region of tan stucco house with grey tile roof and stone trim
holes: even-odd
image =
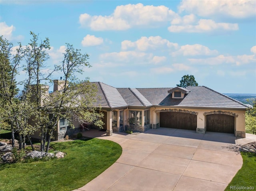
[[[208,87],[115,88],[102,82],[92,84],[98,90],[94,106],[104,113],[103,128],[108,136],[124,131],[129,124],[135,132],[166,127],[245,137],[248,106]],[[80,124],[74,122],[74,126],[74,130],[68,129],[61,119],[55,138],[79,132]]]

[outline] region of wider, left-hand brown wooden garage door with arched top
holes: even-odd
[[[161,112],[160,127],[196,130],[196,115],[183,112]]]

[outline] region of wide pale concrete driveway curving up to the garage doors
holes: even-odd
[[[242,167],[239,145],[256,136],[172,128],[137,135],[91,130],[84,136],[112,140],[122,146],[120,158],[98,177],[75,191],[221,191]]]

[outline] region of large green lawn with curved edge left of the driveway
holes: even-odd
[[[112,165],[122,148],[100,139],[51,143],[63,159],[1,164],[0,191],[70,191],[82,187]]]

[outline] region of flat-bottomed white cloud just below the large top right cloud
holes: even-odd
[[[203,33],[214,32],[218,30],[233,31],[238,30],[238,24],[232,23],[216,23],[211,19],[200,19],[197,25],[171,25],[168,27],[170,32],[188,32],[188,33]]]

